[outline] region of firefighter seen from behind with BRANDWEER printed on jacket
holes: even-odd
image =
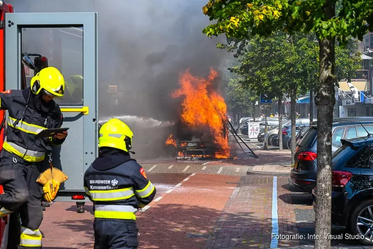
[[[94,204],[94,249],[137,248],[135,212],[156,194],[144,168],[129,155],[132,137],[131,129],[118,119],[102,124],[99,130],[99,156],[84,176],[84,187]]]

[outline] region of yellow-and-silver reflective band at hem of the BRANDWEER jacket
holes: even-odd
[[[103,219],[136,220],[136,209],[124,205],[94,205],[94,217]]]

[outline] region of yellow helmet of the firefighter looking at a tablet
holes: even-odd
[[[32,77],[31,91],[38,95],[40,92],[62,99],[65,92],[64,76],[55,67],[46,67]]]

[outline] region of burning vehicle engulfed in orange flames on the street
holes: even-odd
[[[176,159],[229,158],[227,106],[213,87],[218,73],[210,68],[207,78],[187,70],[179,79],[180,88],[172,98],[184,97],[175,133],[166,140],[177,148]]]

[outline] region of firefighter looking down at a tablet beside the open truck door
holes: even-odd
[[[47,194],[48,190],[36,182],[40,175],[38,167],[46,156],[50,158],[51,146],[65,141],[67,131],[49,138],[35,135],[46,128],[61,127],[63,116],[53,99],[63,98],[64,90],[63,75],[58,69],[47,67],[31,79],[30,87],[0,93],[0,109],[9,113],[0,154],[0,184],[4,188],[0,195],[0,218],[19,213],[20,238],[10,234],[9,241],[19,241],[20,249],[41,248],[41,201],[43,192]]]

